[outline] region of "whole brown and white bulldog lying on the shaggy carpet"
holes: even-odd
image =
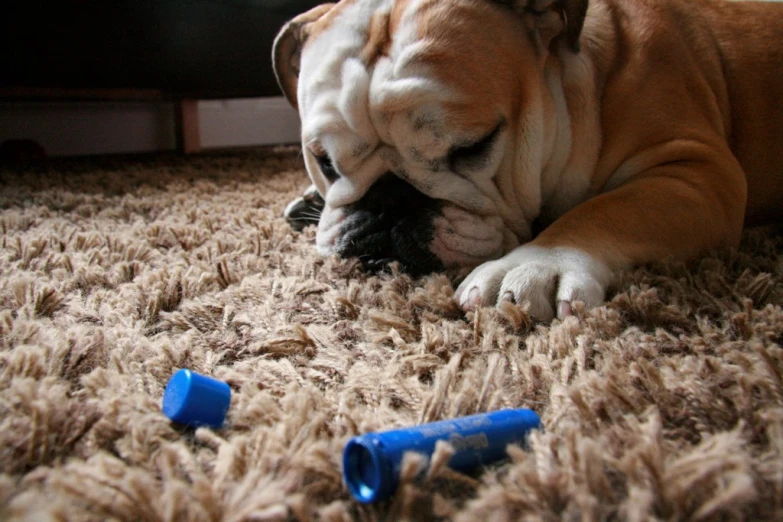
[[[475,267],[465,310],[563,318],[783,217],[783,4],[342,0],[273,61],[318,250]]]

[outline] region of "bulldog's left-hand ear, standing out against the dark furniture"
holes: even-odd
[[[302,48],[310,36],[311,24],[328,13],[334,4],[322,4],[300,14],[280,29],[272,44],[272,65],[277,83],[286,100],[299,109],[296,88],[299,83],[299,61]]]

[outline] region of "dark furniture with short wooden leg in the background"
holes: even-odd
[[[278,96],[272,42],[312,0],[6,0],[0,99],[171,100],[199,149],[197,100]]]

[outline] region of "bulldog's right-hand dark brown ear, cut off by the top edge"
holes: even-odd
[[[512,7],[532,21],[544,48],[555,38],[563,37],[575,53],[587,16],[588,0],[496,0]]]

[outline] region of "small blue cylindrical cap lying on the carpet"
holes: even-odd
[[[229,404],[228,384],[185,369],[169,379],[163,392],[163,413],[187,426],[221,427]]]

